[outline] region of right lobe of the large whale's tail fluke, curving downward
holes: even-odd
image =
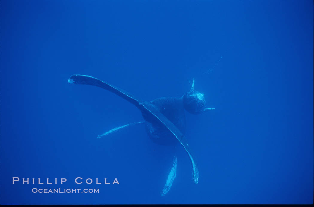
[[[150,120],[155,120],[156,122],[164,125],[171,134],[180,142],[180,144],[183,146],[185,151],[190,157],[191,163],[192,163],[192,173],[193,173],[193,181],[195,184],[198,183],[198,166],[197,162],[194,158],[194,156],[191,153],[191,150],[189,149],[189,146],[187,144],[187,139],[185,136],[181,133],[181,131],[176,128],[176,126],[167,119],[161,112],[159,112],[153,105],[149,104],[148,102],[143,102],[140,104],[140,110],[143,112],[149,112],[151,114]]]

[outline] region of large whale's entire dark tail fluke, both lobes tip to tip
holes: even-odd
[[[171,121],[169,121],[169,119],[167,119],[167,117],[165,117],[160,111],[157,110],[157,108],[153,104],[146,101],[140,101],[138,99],[135,99],[132,95],[130,95],[126,91],[121,90],[117,88],[116,86],[108,84],[104,81],[96,79],[92,76],[72,75],[68,79],[68,82],[70,84],[94,85],[94,86],[98,86],[100,88],[109,90],[112,93],[119,95],[120,97],[124,98],[125,100],[129,101],[130,103],[138,107],[138,109],[142,112],[142,115],[146,121],[164,126],[181,143],[181,145],[183,146],[183,148],[186,150],[187,154],[189,155],[191,163],[192,163],[192,169],[193,169],[192,171],[193,181],[195,184],[198,183],[198,166],[197,166],[194,156],[191,153],[191,150],[189,150],[186,138],[181,133],[181,131],[178,128],[176,128],[176,126]]]

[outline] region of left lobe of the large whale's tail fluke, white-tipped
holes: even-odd
[[[128,92],[126,92],[122,89],[119,89],[118,87],[113,86],[109,83],[106,83],[102,80],[99,80],[97,78],[89,76],[89,75],[72,75],[68,79],[68,83],[70,83],[70,84],[94,85],[94,86],[109,90],[112,93],[114,93],[114,94],[124,98],[125,100],[129,101],[130,103],[132,103],[136,107],[138,107],[139,102],[140,102],[138,99],[134,98],[133,95],[129,94]]]

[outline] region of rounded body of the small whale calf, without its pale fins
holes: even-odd
[[[199,114],[204,112],[206,101],[204,94],[198,91],[190,91],[183,97],[184,108],[192,114]]]

